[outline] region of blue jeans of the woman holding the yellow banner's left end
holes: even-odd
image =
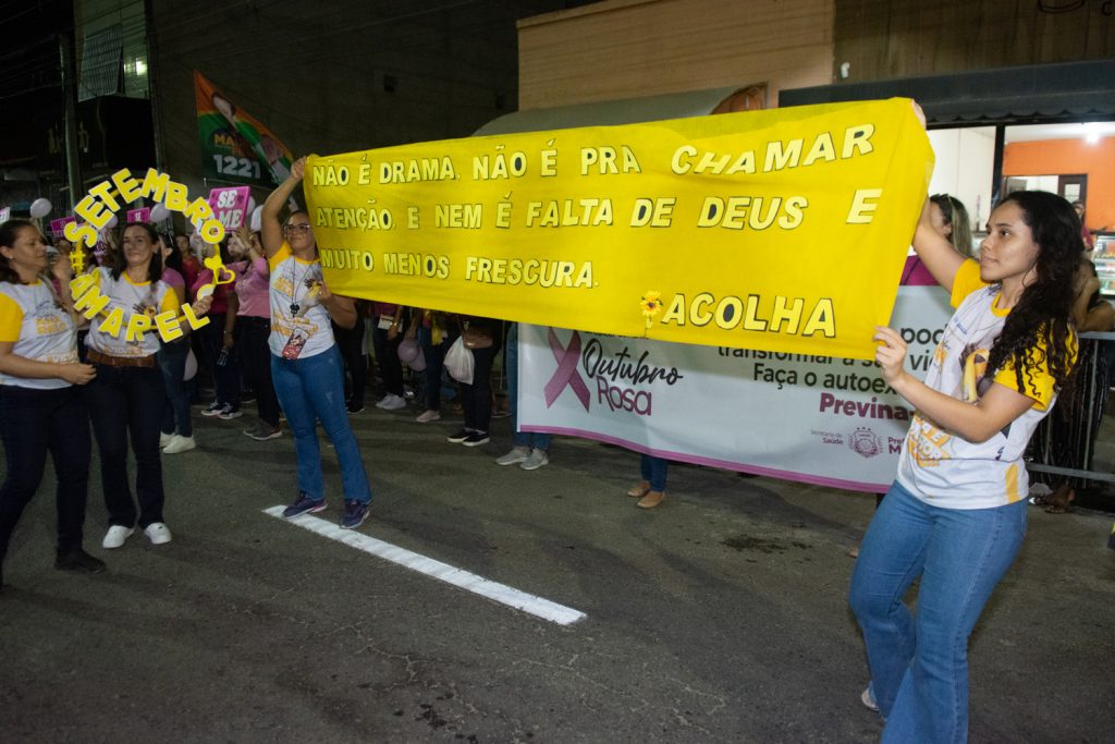
[[[371,501],[368,474],[345,408],[345,363],[337,346],[304,359],[283,359],[271,355],[271,379],[294,435],[298,490],[314,501],[324,499],[317,429],[317,421],[320,419],[337,450],[345,500]]]

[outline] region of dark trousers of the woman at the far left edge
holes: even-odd
[[[0,486],[0,562],[23,508],[42,482],[47,453],[58,487],[58,552],[81,547],[89,485],[89,416],[77,386],[36,390],[0,385],[0,439],[7,474]]]

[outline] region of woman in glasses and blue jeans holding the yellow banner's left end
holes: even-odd
[[[345,364],[330,321],[352,328],[356,303],[333,294],[322,281],[310,215],[294,212],[285,224],[279,221],[304,167],[304,157],[294,162],[291,175],[264,202],[260,223],[271,268],[271,379],[298,457],[298,497],[283,516],[326,508],[317,433],[320,419],[341,466],[345,512],[340,525],[355,530],[368,515],[371,489],[345,408]]]

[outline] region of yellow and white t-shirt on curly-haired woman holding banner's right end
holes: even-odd
[[[925,385],[969,403],[987,392],[987,360],[1010,313],[995,307],[998,297],[997,284],[980,281],[979,263],[961,265],[952,284],[957,311],[944,327]],[[993,380],[1018,390],[1010,363]],[[899,458],[899,483],[922,501],[947,509],[991,509],[1022,499],[1029,490],[1022,453],[1057,397],[1044,365],[1032,368],[1027,381],[1035,387],[1019,392],[1034,398],[1034,405],[987,442],[969,442],[915,414]]]

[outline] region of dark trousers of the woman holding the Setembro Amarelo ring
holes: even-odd
[[[157,367],[97,365],[97,376],[85,386],[89,421],[100,453],[100,485],[108,524],[136,525],[136,504],[128,489],[128,438],[136,456],[138,524],[163,522],[163,461],[158,427],[166,389]]]

